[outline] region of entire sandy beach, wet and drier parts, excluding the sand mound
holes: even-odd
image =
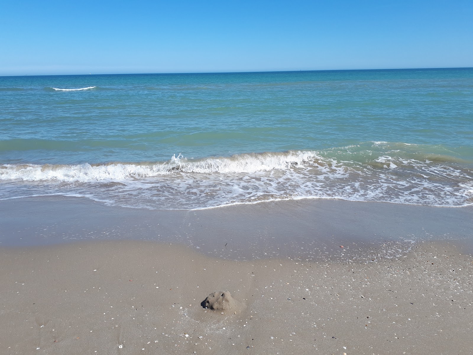
[[[1,354],[473,351],[471,209],[22,199],[0,212]],[[238,309],[204,309],[216,291]]]

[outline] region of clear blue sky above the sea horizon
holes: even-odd
[[[473,0],[0,0],[0,75],[473,66]]]

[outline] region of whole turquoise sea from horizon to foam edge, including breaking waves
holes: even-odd
[[[473,69],[0,77],[0,199],[473,203]]]

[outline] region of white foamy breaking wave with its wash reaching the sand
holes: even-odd
[[[328,151],[238,154],[161,162],[0,166],[0,198],[87,196],[108,204],[202,209],[302,198],[434,206],[473,204],[473,171],[455,161]]]

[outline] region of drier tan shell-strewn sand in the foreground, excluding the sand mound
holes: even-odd
[[[472,257],[229,261],[100,241],[1,250],[0,353],[473,354]],[[214,291],[240,302],[204,309]]]

